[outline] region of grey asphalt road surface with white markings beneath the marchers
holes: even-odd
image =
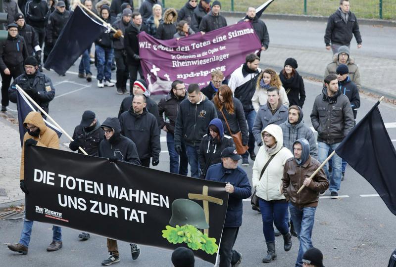
[[[289,37],[292,37],[289,44],[293,45],[295,42],[294,39],[302,39],[301,35],[294,34],[292,29],[298,27],[300,23],[305,22],[273,20],[268,21],[267,25],[271,25],[270,33],[273,42],[280,40],[277,38],[288,37],[289,39]],[[284,33],[275,33],[276,29],[283,27],[289,27],[289,29],[285,30]],[[314,24],[313,27],[319,26]],[[365,30],[365,27],[361,26],[361,30]],[[386,29],[380,30],[386,31]],[[367,48],[365,51],[372,51],[375,54],[375,35],[374,33],[372,35],[373,47]],[[304,42],[308,43],[308,41]],[[367,38],[368,42],[369,39]],[[391,55],[393,50],[388,49],[391,44],[393,43],[385,43],[385,48],[379,48],[383,53],[379,54],[388,52],[389,54],[387,56],[395,57],[394,54]],[[322,45],[322,43],[320,45],[319,43],[315,43],[313,46],[317,49],[321,49],[321,47],[324,49],[324,45]],[[50,103],[49,115],[70,135],[73,133],[74,127],[79,124],[84,110],[94,110],[97,113],[99,121],[103,121],[106,117],[117,116],[119,105],[125,97],[125,95],[117,95],[115,88],[97,88],[95,79],[94,82],[89,84],[85,80],[77,78],[78,63],[79,61],[77,61],[76,65],[70,69],[65,77],[59,77],[52,71],[45,71],[52,79],[56,88],[56,97]],[[93,69],[93,73],[96,74],[95,68]],[[115,78],[114,72],[113,78]],[[321,92],[321,85],[319,83],[305,81],[305,89],[307,99],[303,107],[305,114],[304,122],[311,125],[309,114],[315,96]],[[156,101],[159,98],[160,96],[153,97]],[[358,111],[357,120],[360,120],[368,112],[375,101],[377,100],[361,95],[361,107]],[[9,108],[15,110],[16,106],[11,104]],[[384,122],[390,123],[388,124],[388,132],[391,139],[396,141],[396,107],[382,103],[380,105],[380,111]],[[12,111],[9,112],[11,114],[13,113]],[[164,133],[161,133],[161,135],[165,136]],[[396,143],[395,141],[393,142],[394,145]],[[61,143],[66,142],[68,140],[65,136],[62,136]],[[161,143],[161,148],[163,151],[167,150],[166,142]],[[155,168],[168,171],[168,158],[166,152],[161,153],[160,164]],[[251,167],[252,162],[250,162],[249,167],[243,167],[250,179]],[[322,198],[319,201],[316,212],[313,244],[324,253],[324,265],[338,267],[387,266],[391,252],[396,247],[395,216],[387,209],[381,198],[378,196],[367,196],[376,194],[375,190],[350,167],[347,167],[346,178],[342,182],[339,194],[344,197],[337,200]],[[328,195],[329,192],[326,193],[326,196]],[[18,242],[21,229],[21,220],[0,221],[0,242],[2,244]],[[63,248],[57,252],[49,253],[46,251],[46,247],[51,241],[51,233],[51,226],[49,224],[35,223],[29,254],[22,256],[10,252],[3,245],[0,247],[0,266],[89,267],[99,266],[100,262],[107,257],[106,241],[103,237],[92,236],[90,240],[82,242],[78,238],[79,231],[67,228],[63,228]],[[285,252],[282,249],[283,238],[277,237],[276,247],[278,258],[266,266],[294,266],[298,250],[296,237],[293,237],[293,242],[292,250]],[[141,257],[137,261],[132,261],[127,243],[119,242],[119,249],[121,261],[116,266],[171,266],[170,251],[144,246],[142,247]],[[247,201],[244,202],[244,223],[240,229],[235,249],[243,254],[242,267],[264,265],[261,263],[261,259],[265,256],[266,247],[262,234],[261,216],[251,210]],[[196,259],[196,266],[206,267],[211,266],[211,264]]]

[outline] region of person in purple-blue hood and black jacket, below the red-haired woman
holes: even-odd
[[[217,118],[210,121],[207,134],[203,135],[199,145],[200,178],[204,179],[209,166],[221,163],[221,151],[229,146],[235,146],[231,136],[224,134],[223,124]]]

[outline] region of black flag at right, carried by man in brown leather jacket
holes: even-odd
[[[379,103],[345,137],[336,153],[374,187],[396,215],[396,150],[378,109]]]

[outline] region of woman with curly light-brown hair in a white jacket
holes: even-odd
[[[282,86],[279,75],[273,69],[266,68],[258,75],[256,91],[251,98],[251,103],[253,104],[253,108],[256,112],[258,112],[260,106],[267,103],[267,89],[270,87],[279,89],[282,104],[289,107],[289,98]]]

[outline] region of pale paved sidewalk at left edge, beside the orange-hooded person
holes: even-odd
[[[3,207],[2,204],[24,199],[25,194],[19,188],[21,164],[19,133],[2,116],[0,117],[0,140],[0,207]]]

